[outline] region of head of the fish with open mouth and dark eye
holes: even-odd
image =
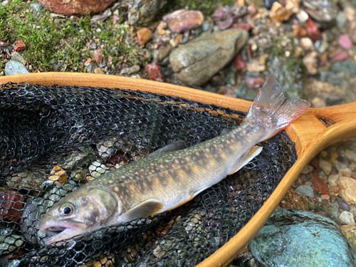
[[[120,206],[105,189],[84,186],[53,204],[39,229],[51,236],[45,244],[53,244],[104,227]]]

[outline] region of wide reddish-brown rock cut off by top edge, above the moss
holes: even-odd
[[[45,6],[57,14],[73,15],[73,14],[95,14],[105,10],[115,0],[38,0],[40,4]]]

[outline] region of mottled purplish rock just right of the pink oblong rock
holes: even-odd
[[[235,19],[247,14],[246,6],[221,6],[211,15],[221,31],[230,28]]]

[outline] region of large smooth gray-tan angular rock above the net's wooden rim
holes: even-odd
[[[230,28],[179,46],[169,56],[174,73],[187,85],[204,85],[245,46],[248,32]]]

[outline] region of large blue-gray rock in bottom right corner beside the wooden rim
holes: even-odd
[[[310,211],[276,209],[250,249],[266,266],[356,266],[356,250],[337,224]]]

